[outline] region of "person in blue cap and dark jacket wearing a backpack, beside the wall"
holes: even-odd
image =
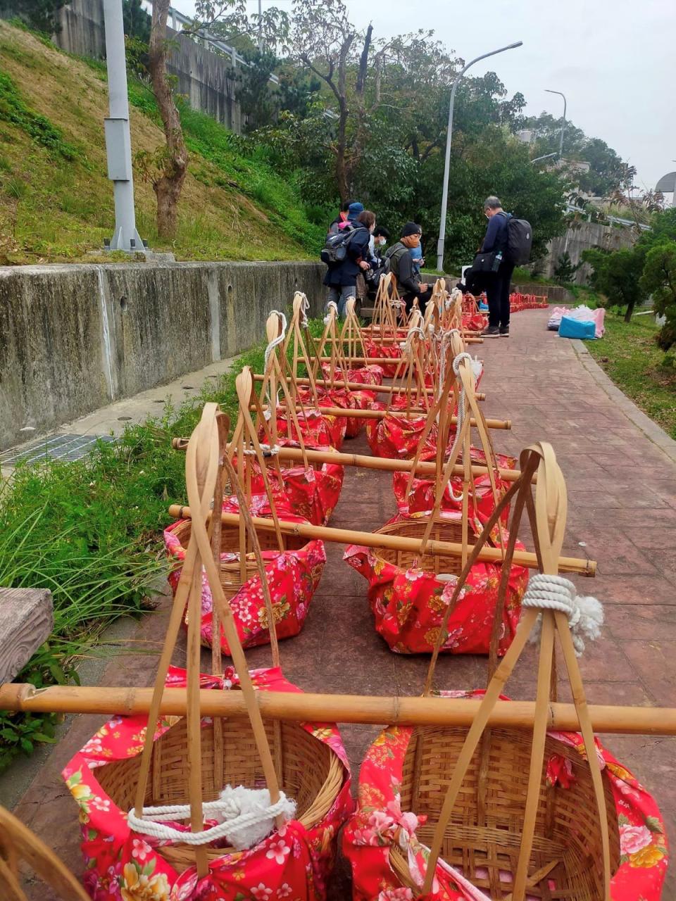
[[[369,241],[375,228],[376,216],[370,210],[363,210],[338,234],[326,237],[322,260],[326,263],[324,285],[329,288],[329,300],[338,305],[338,315],[345,315],[345,304],[349,297],[357,296],[357,275],[370,268]]]

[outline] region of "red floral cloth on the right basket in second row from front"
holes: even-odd
[[[458,514],[443,516],[452,519]],[[405,522],[398,515],[389,523]],[[388,524],[389,524],[388,523]],[[471,530],[471,521],[470,521]],[[474,526],[474,536],[480,523]],[[471,532],[470,532],[471,534]],[[507,541],[507,536],[505,537]],[[521,542],[516,547],[523,549]],[[441,628],[443,614],[450,603],[457,577],[441,581],[424,569],[402,569],[376,556],[370,548],[352,544],[343,560],[369,582],[369,603],[375,617],[376,632],[397,654],[431,653]],[[461,590],[448,621],[448,636],[442,651],[452,654],[488,654],[493,617],[498,601],[500,566],[476,562]],[[502,616],[498,653],[504,654],[512,643],[521,615],[528,573],[525,567],[513,565],[507,582],[507,598]]]

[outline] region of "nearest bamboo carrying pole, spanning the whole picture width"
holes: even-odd
[[[480,698],[320,695],[257,691],[256,704],[264,719],[306,723],[370,725],[439,725],[467,727],[474,720]],[[19,682],[0,686],[0,710],[59,714],[148,714],[152,688],[50,686],[35,688]],[[184,716],[185,688],[165,688],[160,714]],[[247,706],[240,691],[202,689],[199,709],[205,716],[241,716]],[[532,729],[534,701],[498,701],[489,725]],[[596,733],[676,735],[676,708],[589,705]],[[548,706],[547,728],[563,732],[580,729],[574,704]]]

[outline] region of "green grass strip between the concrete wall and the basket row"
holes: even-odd
[[[315,337],[323,327],[310,322]],[[207,401],[220,404],[233,427],[235,377],[244,366],[262,372],[263,360],[261,344],[196,397],[128,426],[87,459],[19,466],[0,487],[0,585],[49,588],[54,599],[54,633],[17,681],[41,687],[77,679],[78,660],[101,652],[108,623],[152,605],[168,572],[167,511],[186,502],[186,458],[171,439],[193,431]],[[0,772],[18,754],[51,742],[54,724],[52,715],[0,712]]]

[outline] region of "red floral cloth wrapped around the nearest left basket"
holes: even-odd
[[[279,669],[255,669],[251,677],[260,691],[299,691]],[[186,684],[186,670],[172,667],[167,685]],[[224,678],[201,677],[203,688],[217,691],[228,691],[237,684],[232,667],[225,669]],[[206,722],[203,720],[203,725]],[[170,725],[170,720],[161,718],[155,739]],[[94,901],[324,901],[336,836],[353,808],[350,769],[340,733],[333,724],[302,724],[317,742],[328,744],[343,763],[343,787],[324,819],[309,830],[291,820],[250,850],[224,854],[212,861],[208,876],[201,879],[194,867],[178,874],[160,855],[158,840],[133,833],[127,812],[114,805],[96,779],[98,768],[114,760],[138,757],[147,726],[147,716],[114,716],[63,770],[80,808],[84,883]]]

